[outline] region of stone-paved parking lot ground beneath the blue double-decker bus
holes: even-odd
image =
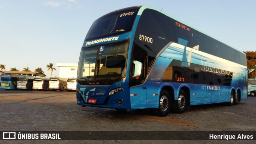
[[[157,117],[151,110],[81,107],[75,92],[0,89],[0,110],[1,131],[256,131],[256,97],[234,106],[191,106],[183,114]]]

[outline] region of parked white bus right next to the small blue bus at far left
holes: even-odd
[[[34,76],[21,76],[17,80],[18,90],[32,90]]]

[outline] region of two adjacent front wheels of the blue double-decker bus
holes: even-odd
[[[170,110],[175,113],[183,113],[188,104],[186,92],[180,90],[178,100],[171,99],[167,90],[161,90],[159,97],[159,106],[155,112],[158,116],[167,116]]]

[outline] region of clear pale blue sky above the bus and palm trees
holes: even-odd
[[[108,12],[152,6],[240,51],[256,51],[256,0],[0,0],[0,64],[78,63],[92,23]]]

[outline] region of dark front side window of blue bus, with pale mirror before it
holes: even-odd
[[[130,64],[130,86],[142,84],[148,73],[148,54],[140,46],[133,45],[132,61]]]

